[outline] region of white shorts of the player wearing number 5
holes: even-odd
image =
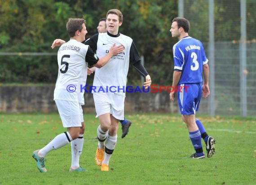
[[[75,101],[55,100],[64,128],[81,127],[81,105]],[[82,113],[81,113],[82,112]],[[84,119],[83,119],[84,120]]]

